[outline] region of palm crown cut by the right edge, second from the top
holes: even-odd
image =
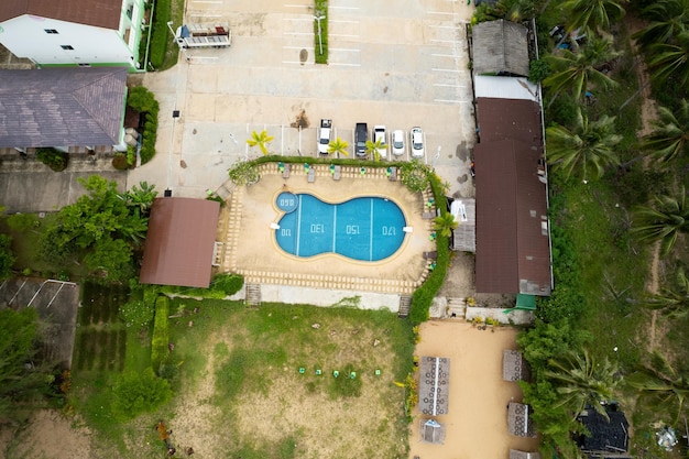
[[[655,83],[669,78],[686,87],[689,85],[689,31],[677,35],[676,43],[658,43],[648,47],[648,70]]]

